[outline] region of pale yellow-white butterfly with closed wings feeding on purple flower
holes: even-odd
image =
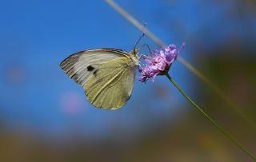
[[[90,104],[119,109],[130,99],[139,65],[138,49],[89,49],[63,60],[61,68],[81,85]]]

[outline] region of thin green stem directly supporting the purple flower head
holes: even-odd
[[[187,101],[190,101],[190,103],[194,106],[195,109],[198,109],[199,113],[202,113],[202,115],[203,115],[204,117],[206,117],[206,119],[207,119],[208,121],[210,121],[211,124],[214,124],[214,126],[215,126],[216,128],[218,128],[218,130],[221,131],[227,138],[229,138],[236,146],[238,146],[238,148],[240,148],[243,152],[245,152],[248,156],[250,156],[250,158],[251,158],[252,160],[256,161],[256,157],[255,157],[252,153],[250,153],[248,150],[246,150],[246,148],[244,148],[244,147],[242,146],[242,144],[240,144],[240,143],[238,142],[238,140],[235,140],[234,137],[231,136],[229,132],[227,132],[227,131],[226,131],[224,128],[222,128],[216,121],[214,121],[211,117],[209,117],[201,108],[199,108],[198,105],[196,105],[196,104],[194,103],[194,101],[192,101],[192,100],[190,99],[190,97],[188,97],[188,96],[186,95],[186,93],[184,93],[184,92],[182,91],[182,89],[179,88],[179,86],[176,84],[176,82],[170,77],[169,73],[166,73],[166,77],[168,77],[168,79],[174,84],[174,86],[178,89],[178,91],[179,91],[180,93],[182,93],[182,95],[186,98],[186,100],[187,100]]]

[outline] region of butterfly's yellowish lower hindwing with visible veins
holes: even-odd
[[[130,99],[134,88],[135,67],[130,58],[119,57],[101,65],[86,82],[90,103],[102,109],[119,109]]]

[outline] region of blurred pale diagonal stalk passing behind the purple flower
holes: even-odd
[[[165,47],[166,44],[161,41],[158,37],[156,37],[150,30],[146,29],[145,26],[143,26],[141,23],[139,23],[134,17],[132,17],[130,14],[126,12],[126,10],[123,10],[122,7],[118,6],[117,3],[115,3],[112,0],[106,0],[106,2],[114,8],[119,14],[121,14],[124,18],[126,18],[130,23],[132,23],[134,26],[138,28],[138,30],[141,30],[148,38],[150,38],[152,41],[154,41],[155,44],[157,44],[160,47]],[[235,105],[233,101],[230,100],[229,97],[226,96],[226,93],[222,91],[218,87],[218,85],[215,85],[214,82],[210,81],[209,78],[204,76],[198,69],[196,69],[193,65],[190,64],[190,62],[186,61],[183,57],[178,57],[178,61],[180,61],[187,69],[189,69],[192,73],[194,73],[199,79],[201,79],[206,85],[210,87],[210,89],[213,89],[215,93],[218,94],[219,97],[222,98],[223,101],[226,101],[226,103],[230,106],[230,109],[233,109],[236,113],[239,114],[240,117],[244,121],[246,121],[247,124],[249,124],[254,130],[256,129],[256,124],[254,121],[250,119],[250,117],[247,117],[245,113],[242,112],[241,109],[239,109],[238,105]]]

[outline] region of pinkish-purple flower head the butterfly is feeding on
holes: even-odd
[[[185,43],[182,44],[181,49],[184,45]],[[143,56],[146,65],[141,65],[138,69],[141,73],[138,80],[146,82],[152,77],[152,81],[154,81],[158,75],[168,72],[170,65],[177,59],[181,49],[177,50],[176,45],[168,45],[165,49],[155,50],[152,56]]]

